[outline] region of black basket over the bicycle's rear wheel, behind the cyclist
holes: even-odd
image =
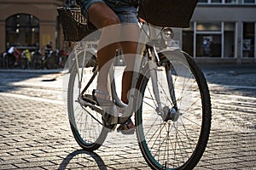
[[[80,8],[57,8],[59,20],[63,29],[64,41],[78,42],[91,32],[96,31],[96,27],[89,25],[80,12]]]

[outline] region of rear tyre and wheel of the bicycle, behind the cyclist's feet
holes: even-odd
[[[82,68],[83,56],[83,53],[78,56],[79,71],[81,71]],[[89,52],[87,52],[85,56],[86,59],[84,60],[84,66],[86,65],[86,68],[84,68],[84,70],[90,71],[96,67],[96,58]],[[69,72],[70,78],[67,88],[67,111],[74,139],[76,139],[77,143],[84,150],[97,150],[106,139],[108,129],[103,127],[101,123],[97,122],[92,117],[94,116],[98,121],[102,121],[102,115],[100,113],[93,111],[89,106],[84,107],[76,102],[79,91],[83,90],[86,84],[86,78],[83,77],[82,79],[85,82],[82,82],[81,88],[79,88],[76,60],[73,60]]]

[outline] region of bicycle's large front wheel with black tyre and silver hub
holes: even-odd
[[[137,97],[137,139],[153,169],[192,169],[200,161],[210,133],[207,82],[188,54],[167,51],[163,55],[165,61],[156,70],[162,108],[156,102],[155,80],[151,81],[148,66],[137,84],[141,93]]]

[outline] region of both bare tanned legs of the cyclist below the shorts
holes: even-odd
[[[122,27],[122,32],[119,30],[118,25],[120,23],[119,18],[113,11],[108,8],[105,3],[94,3],[89,8],[89,20],[90,22],[95,25],[97,28],[103,28],[102,36],[100,42],[98,44],[99,49],[97,52],[97,63],[99,66],[99,76],[97,80],[97,89],[101,91],[108,91],[108,71],[111,66],[111,62],[109,60],[113,59],[115,55],[116,48],[118,48],[119,44],[119,36],[133,36],[138,37],[138,26],[133,27]],[[109,29],[110,28],[110,29]],[[123,33],[125,33],[123,35]],[[127,34],[128,33],[128,34]],[[132,34],[132,35],[131,35]],[[115,41],[116,40],[116,41]],[[108,41],[111,41],[109,44]],[[127,94],[131,89],[131,82],[132,82],[132,71],[134,66],[134,59],[135,54],[137,54],[137,42],[121,42],[120,43],[123,53],[125,54],[125,73],[122,79],[122,97],[121,99],[128,104]],[[101,94],[98,94],[96,98],[102,98]],[[134,128],[133,122],[128,122],[124,126],[121,125],[121,130],[129,130]],[[133,129],[134,130],[134,129]],[[133,131],[134,132],[134,131]]]

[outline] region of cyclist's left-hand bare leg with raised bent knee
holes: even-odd
[[[109,41],[113,41],[114,37],[118,38],[119,36],[118,26],[113,26],[120,23],[119,17],[105,3],[93,3],[88,10],[88,14],[89,20],[94,26],[103,28],[97,52],[97,63],[99,67],[97,89],[107,92],[108,71],[111,66],[111,62],[108,61],[113,59],[115,50],[118,47],[117,42],[109,44]],[[98,97],[104,98],[100,94]]]

